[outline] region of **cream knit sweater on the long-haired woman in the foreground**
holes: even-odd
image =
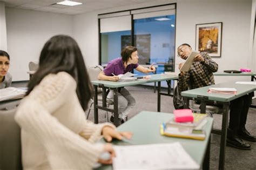
[[[86,95],[86,94],[84,94]],[[18,107],[23,169],[91,169],[103,152],[103,126],[85,120],[70,74],[49,74]]]

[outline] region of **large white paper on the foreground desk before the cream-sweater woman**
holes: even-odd
[[[199,169],[179,142],[114,146],[113,169]]]

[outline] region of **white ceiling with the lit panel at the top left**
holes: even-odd
[[[65,6],[57,5],[63,0],[0,0],[5,2],[5,6],[11,8],[29,9],[35,11],[45,11],[53,13],[65,13],[76,15],[94,10],[116,8],[119,6],[136,5],[139,3],[152,2],[156,0],[73,0],[82,2],[82,5]]]

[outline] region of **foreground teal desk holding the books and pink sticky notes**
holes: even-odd
[[[133,133],[131,144],[115,140],[113,145],[144,145],[180,142],[185,151],[192,157],[203,169],[209,169],[210,161],[210,137],[213,125],[213,118],[207,117],[205,125],[205,140],[193,140],[183,138],[172,138],[160,135],[160,124],[172,119],[171,113],[159,113],[142,111],[136,116],[120,125],[118,131],[129,131]],[[142,127],[143,126],[143,127]],[[103,139],[101,142],[105,142]],[[153,160],[152,160],[153,161]],[[112,166],[102,166],[98,169],[112,169]]]

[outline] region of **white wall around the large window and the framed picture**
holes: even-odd
[[[222,51],[220,58],[213,58],[219,64],[219,71],[239,70],[248,67],[251,60],[250,25],[252,0],[182,0],[157,1],[136,6],[125,6],[95,11],[74,17],[74,36],[85,55],[87,65],[98,64],[98,13],[143,8],[177,2],[176,47],[182,43],[195,47],[196,24],[223,22]],[[181,59],[176,57],[176,63]],[[256,71],[255,68],[251,68]],[[177,68],[176,68],[177,70]],[[249,77],[215,77],[217,83],[228,80],[250,80]]]

